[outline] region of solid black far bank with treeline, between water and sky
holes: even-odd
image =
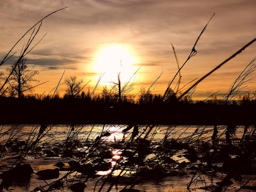
[[[152,98],[152,100],[151,100]],[[118,102],[99,94],[90,98],[1,97],[1,124],[195,124],[254,125],[256,101],[229,105],[210,102],[163,101],[151,94],[143,102]],[[111,100],[113,99],[113,100]]]

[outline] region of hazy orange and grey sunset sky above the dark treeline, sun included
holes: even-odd
[[[36,64],[39,83],[47,81],[35,88],[38,94],[49,93],[64,71],[62,82],[70,76],[83,79],[82,85],[91,80],[85,92],[89,87],[92,90],[103,74],[100,91],[102,86],[117,82],[119,70],[122,82],[132,77],[134,94],[142,87],[149,89],[162,74],[151,91],[163,94],[177,73],[171,44],[181,66],[215,13],[195,47],[197,54],[181,70],[180,87],[186,85],[186,90],[189,82],[204,76],[256,36],[254,0],[9,0],[0,2],[1,58],[36,22],[63,7],[67,8],[43,20],[32,45],[47,34],[26,55],[30,68]],[[0,67],[5,75],[5,68],[18,58],[28,38],[22,39],[12,51],[17,53]],[[225,94],[255,53],[256,43],[199,83],[192,98],[204,100],[217,91],[217,95]],[[254,87],[250,84],[248,89]],[[62,84],[58,92],[63,94],[65,89]]]

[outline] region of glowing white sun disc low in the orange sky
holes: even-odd
[[[106,84],[117,81],[117,75],[120,72],[120,79],[122,82],[129,81],[135,67],[135,57],[131,50],[124,45],[107,45],[102,47],[97,54],[95,61],[95,70],[104,73],[102,81]]]

